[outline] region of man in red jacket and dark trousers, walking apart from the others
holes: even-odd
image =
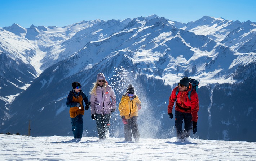
[[[176,95],[177,91],[178,94]],[[189,91],[191,91],[191,99],[188,97]],[[199,110],[197,92],[192,89],[188,77],[182,78],[179,85],[172,90],[168,105],[168,115],[171,119],[173,118],[172,108],[175,100],[175,128],[177,131],[177,140],[185,141],[185,138],[189,137],[191,130],[194,134],[197,132],[197,112]],[[183,120],[184,131],[182,130]]]

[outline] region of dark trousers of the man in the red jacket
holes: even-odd
[[[184,120],[184,131],[182,124]],[[189,137],[192,130],[192,114],[175,111],[175,128],[177,131],[177,138],[184,139]]]

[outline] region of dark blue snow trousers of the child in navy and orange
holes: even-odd
[[[82,138],[83,135],[83,115],[71,118],[72,132],[74,138]]]

